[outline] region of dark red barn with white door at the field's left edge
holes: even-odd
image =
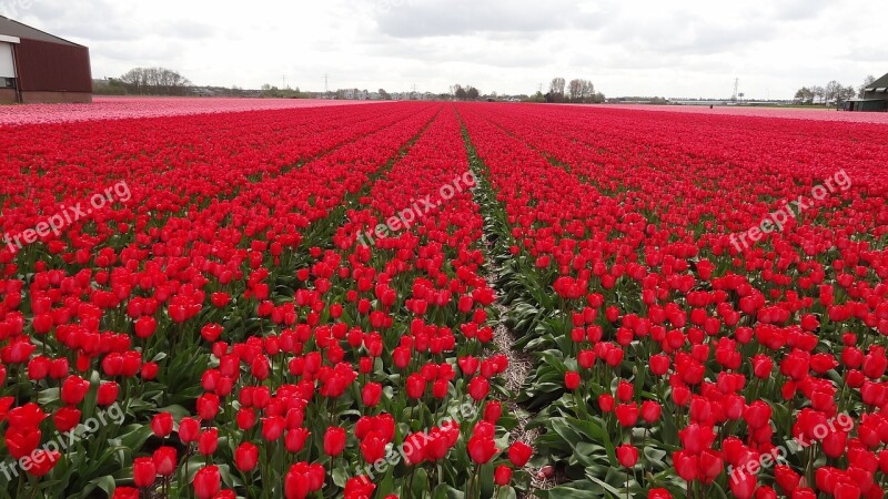
[[[0,103],[92,102],[90,50],[0,17]]]

